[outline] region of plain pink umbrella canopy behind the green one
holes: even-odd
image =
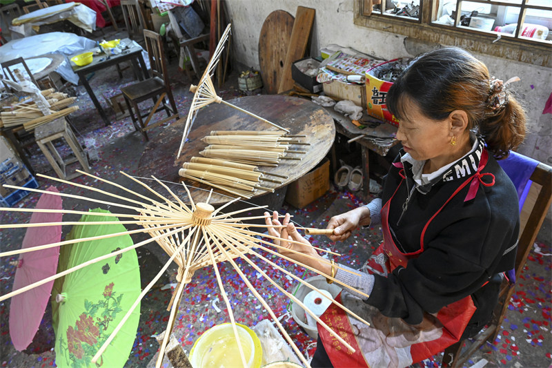
[[[48,191],[59,193],[50,186]],[[42,194],[37,202],[37,209],[61,209],[61,197],[59,195]],[[30,224],[39,222],[61,222],[62,213],[35,212],[30,217]],[[29,227],[23,238],[21,248],[52,244],[61,239],[61,224],[52,226]],[[19,256],[13,289],[21,289],[33,282],[43,280],[55,275],[59,246],[23,253]],[[13,346],[19,351],[27,349],[32,338],[37,333],[44,311],[50,300],[53,281],[47,282],[30,289],[24,293],[14,296],[10,303],[10,337]]]

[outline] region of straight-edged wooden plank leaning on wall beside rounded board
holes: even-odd
[[[308,37],[311,35],[311,28],[315,20],[315,10],[297,6],[295,21],[293,22],[293,30],[291,31],[291,39],[286,54],[286,62],[282,71],[282,79],[278,86],[278,93],[293,88],[293,78],[291,77],[291,64],[293,61],[299,60],[305,55],[306,44]]]

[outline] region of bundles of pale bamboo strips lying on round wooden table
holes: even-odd
[[[278,131],[215,130],[202,142],[209,144],[200,155],[184,163],[179,175],[190,180],[208,184],[239,197],[250,198],[258,191],[274,192],[266,182],[282,184],[287,179],[260,171],[258,166],[278,166],[281,159],[300,160],[289,154],[304,154],[306,151],[290,149],[291,145],[308,145],[302,142],[304,135],[286,135]],[[265,183],[261,183],[265,182]]]

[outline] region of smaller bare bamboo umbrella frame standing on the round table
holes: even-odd
[[[217,104],[225,104],[227,106],[235,108],[236,110],[239,110],[242,113],[255,117],[256,119],[259,119],[262,122],[266,122],[267,124],[270,124],[270,126],[274,126],[279,130],[283,130],[284,132],[289,133],[288,129],[283,128],[282,126],[279,126],[273,122],[269,122],[267,119],[264,119],[263,117],[259,117],[258,115],[250,113],[248,110],[244,110],[243,108],[239,108],[238,106],[230,104],[229,102],[224,101],[223,99],[221,99],[221,97],[217,95],[217,91],[215,90],[215,86],[213,85],[213,80],[211,79],[211,77],[214,73],[215,67],[219,63],[222,50],[224,50],[224,43],[226,43],[226,40],[230,35],[230,26],[231,24],[228,23],[228,26],[226,26],[226,30],[224,30],[224,33],[222,34],[219,40],[219,43],[215,48],[215,52],[213,52],[213,57],[211,57],[209,63],[207,64],[207,68],[205,69],[203,75],[199,79],[199,83],[197,84],[197,86],[194,86],[194,85],[190,86],[190,92],[194,94],[194,97],[192,99],[192,105],[190,106],[190,110],[188,112],[188,117],[186,118],[184,133],[182,135],[182,140],[180,142],[180,147],[177,153],[177,157],[180,157],[180,154],[182,153],[182,148],[184,147],[184,143],[186,142],[186,139],[188,139],[188,134],[192,129],[193,123],[195,121],[195,117],[197,116],[197,111],[200,108],[207,106],[208,104],[212,104],[213,102],[216,102]]]

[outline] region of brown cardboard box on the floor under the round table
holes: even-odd
[[[286,202],[297,209],[322,197],[330,189],[330,160],[324,158],[312,171],[288,185]]]

